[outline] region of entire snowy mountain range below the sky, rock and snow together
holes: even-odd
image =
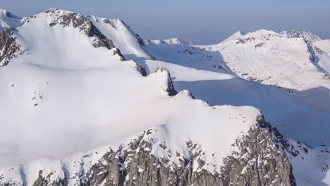
[[[0,185],[330,183],[319,44],[267,30],[209,46],[152,41],[121,20],[56,8],[22,20],[0,33],[11,123]]]

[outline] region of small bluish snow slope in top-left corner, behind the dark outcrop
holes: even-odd
[[[10,27],[18,27],[19,25],[20,18],[18,16],[0,8],[0,30]]]

